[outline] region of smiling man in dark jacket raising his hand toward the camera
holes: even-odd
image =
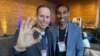
[[[15,34],[17,42],[10,56],[53,56],[52,35],[47,29],[51,9],[46,5],[40,5],[36,11],[36,18],[35,25],[30,18],[22,22]]]

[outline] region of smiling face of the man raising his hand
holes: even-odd
[[[51,11],[49,8],[41,7],[37,14],[37,25],[40,28],[45,29],[50,23],[50,15]]]

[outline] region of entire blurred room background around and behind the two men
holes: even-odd
[[[13,46],[13,35],[22,20],[29,16],[36,20],[36,8],[40,4],[52,8],[51,23],[56,22],[53,9],[59,4],[68,5],[69,21],[86,32],[93,50],[100,51],[100,0],[0,0],[0,56],[7,56],[8,49]]]

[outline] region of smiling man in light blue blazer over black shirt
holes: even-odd
[[[81,29],[68,21],[70,12],[65,5],[56,7],[57,25],[51,27],[55,56],[83,56]]]

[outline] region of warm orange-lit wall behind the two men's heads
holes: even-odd
[[[95,29],[100,26],[99,3],[99,0],[0,0],[0,36],[14,34],[22,19],[35,17],[36,8],[40,4],[50,5],[52,8],[58,4],[68,5],[71,20],[81,18],[82,28]]]

